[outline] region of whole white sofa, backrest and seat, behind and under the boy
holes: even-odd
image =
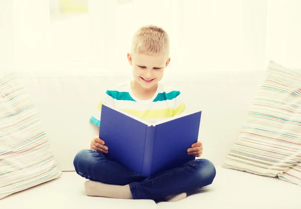
[[[89,148],[97,128],[89,123],[93,108],[107,86],[129,79],[92,72],[18,72],[39,113],[60,178],[0,200],[9,208],[301,208],[301,187],[278,178],[221,168],[236,141],[265,71],[200,71],[197,75],[169,76],[164,82],[178,86],[189,110],[201,109],[201,158],[217,170],[209,186],[190,191],[178,202],[91,197],[84,193],[86,179],[76,174],[75,154]]]

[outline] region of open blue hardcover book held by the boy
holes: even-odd
[[[202,111],[149,123],[135,115],[102,104],[99,138],[105,154],[145,177],[195,159],[187,149],[198,141]]]

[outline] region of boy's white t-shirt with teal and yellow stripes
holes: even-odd
[[[179,90],[158,83],[154,96],[141,100],[134,96],[130,88],[130,81],[122,82],[106,90],[103,100],[99,102],[90,121],[100,125],[101,105],[126,111],[149,122],[158,122],[167,117],[173,117],[185,110],[185,103]]]

